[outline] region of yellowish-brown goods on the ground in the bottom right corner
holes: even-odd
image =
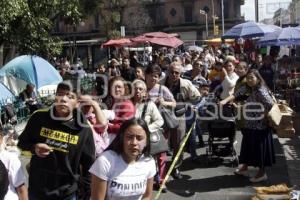
[[[291,191],[285,183],[270,187],[254,187],[256,195],[251,200],[290,200]]]

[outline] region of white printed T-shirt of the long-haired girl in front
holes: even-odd
[[[107,200],[139,200],[147,188],[147,180],[156,173],[153,158],[141,156],[133,163],[126,163],[114,151],[105,151],[94,162],[89,172],[107,181]]]

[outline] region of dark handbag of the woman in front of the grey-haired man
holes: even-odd
[[[161,85],[159,85],[158,94],[159,95],[161,94]],[[162,118],[164,119],[164,126],[166,128],[168,129],[178,128],[179,122],[172,109],[166,108],[164,106],[160,106],[159,110]]]

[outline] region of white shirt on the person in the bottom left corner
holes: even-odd
[[[0,160],[5,165],[8,171],[9,186],[4,200],[18,200],[18,194],[15,188],[25,183],[26,177],[24,175],[21,161],[15,153],[1,150]]]

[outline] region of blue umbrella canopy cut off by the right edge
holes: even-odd
[[[300,27],[286,27],[273,33],[267,33],[258,43],[261,46],[299,45]]]

